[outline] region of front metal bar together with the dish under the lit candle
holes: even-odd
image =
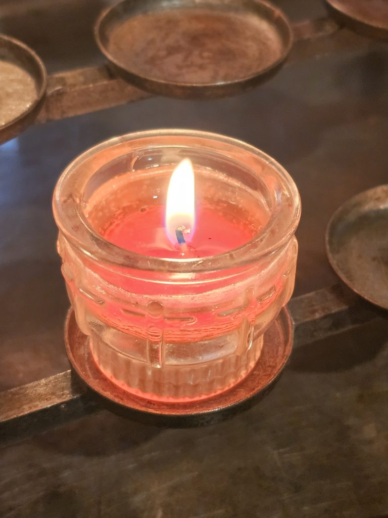
[[[291,299],[294,346],[335,335],[378,318],[388,318],[341,285]],[[102,397],[95,399],[71,375],[62,372],[51,378],[0,393],[0,439],[18,440],[26,435],[58,426],[107,407],[137,421],[167,426],[198,426],[216,423],[246,410],[272,388],[287,363],[292,342],[287,312],[268,330],[262,358],[251,375],[216,398],[193,405],[155,404],[128,395],[110,383],[94,366],[87,343],[70,314],[68,354],[78,375]],[[311,343],[314,348],[314,343]],[[112,405],[113,403],[113,405]]]

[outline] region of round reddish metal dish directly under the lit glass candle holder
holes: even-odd
[[[113,411],[148,423],[179,427],[222,421],[261,399],[287,363],[292,349],[292,335],[291,318],[288,310],[283,308],[264,335],[258,363],[243,381],[208,399],[165,403],[132,395],[102,374],[93,361],[88,338],[81,333],[72,309],[65,327],[66,351],[73,369],[105,403],[111,405]]]

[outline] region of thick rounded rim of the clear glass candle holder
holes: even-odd
[[[277,180],[289,194],[287,204],[289,207],[288,217],[279,210],[285,200],[278,200],[275,210],[271,210],[270,219],[261,231],[242,246],[223,252],[217,255],[195,258],[165,258],[154,257],[132,252],[116,244],[107,241],[91,225],[88,225],[81,209],[83,189],[88,180],[97,170],[127,152],[135,151],[130,144],[138,140],[150,139],[150,147],[182,147],[173,141],[158,146],[157,139],[166,137],[186,138],[187,148],[190,146],[190,139],[196,139],[198,147],[203,147],[204,152],[212,150],[220,155],[227,153],[227,150],[237,151],[238,160],[241,161],[241,154],[249,158],[255,158],[266,166],[271,167]],[[202,146],[201,146],[202,144]],[[207,144],[207,146],[206,146]],[[123,148],[122,151],[121,148]],[[109,160],[101,160],[101,153],[107,150],[112,154]],[[226,154],[227,156],[227,154]],[[235,157],[234,157],[234,160]],[[256,171],[252,169],[253,174]],[[260,176],[260,175],[257,175]],[[122,267],[136,270],[160,270],[163,272],[175,272],[192,274],[193,272],[206,272],[215,270],[227,270],[233,267],[246,266],[260,260],[260,258],[281,249],[295,233],[300,220],[301,203],[300,195],[296,185],[288,172],[271,156],[263,151],[233,137],[220,135],[211,132],[183,129],[161,129],[128,133],[126,135],[113,137],[89,148],[76,157],[63,171],[59,177],[53,195],[53,214],[55,222],[66,239],[90,260],[107,263],[114,267]],[[271,229],[279,226],[278,231]]]

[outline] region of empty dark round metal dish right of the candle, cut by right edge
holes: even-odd
[[[388,185],[357,194],[334,212],[326,252],[352,290],[388,309]]]

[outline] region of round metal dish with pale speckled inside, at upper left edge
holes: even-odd
[[[0,143],[32,124],[46,88],[46,68],[35,52],[0,34]]]

